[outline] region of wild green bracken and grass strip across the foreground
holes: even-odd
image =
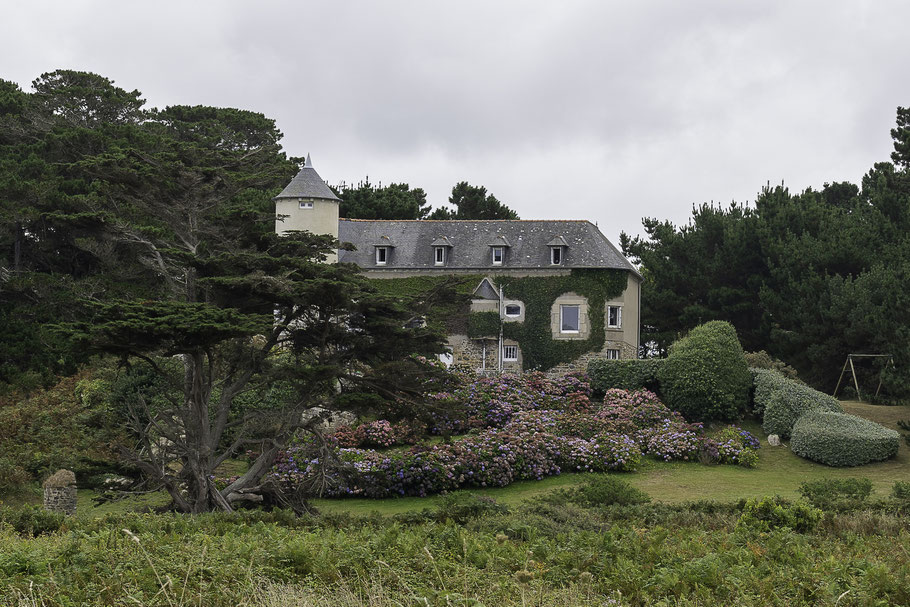
[[[32,509],[0,508],[0,603],[910,602],[907,519],[890,505],[816,520],[817,511],[781,500],[746,516],[745,504],[588,506],[578,499],[583,495],[508,508],[453,494],[437,508],[395,518],[248,511],[119,514],[64,524]],[[598,495],[624,497],[621,489],[591,497]]]

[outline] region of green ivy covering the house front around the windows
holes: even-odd
[[[503,336],[520,344],[525,369],[546,370],[569,363],[583,354],[603,348],[604,306],[608,300],[619,297],[626,288],[628,272],[624,270],[572,270],[562,276],[496,276],[493,283],[505,289],[508,300],[524,303],[524,322],[503,324]],[[435,298],[436,303],[426,306],[420,313],[427,322],[448,334],[466,334],[469,337],[499,335],[497,312],[470,312],[470,296],[484,275],[414,276],[374,280],[373,284],[383,293],[399,297],[413,297],[418,302],[428,294],[448,290],[450,295]],[[553,339],[550,328],[550,310],[553,302],[565,293],[576,293],[588,300],[590,335],[581,340]]]

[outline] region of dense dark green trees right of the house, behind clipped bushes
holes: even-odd
[[[643,344],[665,352],[692,327],[726,320],[745,348],[828,390],[847,354],[891,353],[885,390],[910,394],[910,294],[898,287],[910,282],[907,115],[898,108],[893,164],[859,184],[764,187],[753,205],[699,205],[686,225],[649,218],[645,238],[623,235],[643,266]],[[858,369],[860,381],[874,389],[880,369]]]

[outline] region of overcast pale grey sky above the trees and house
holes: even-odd
[[[858,181],[910,105],[910,2],[4,2],[0,78],[262,112],[329,183],[485,185],[522,218]]]

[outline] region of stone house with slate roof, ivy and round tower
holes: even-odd
[[[590,221],[343,219],[309,156],[274,200],[276,232],[351,243],[330,261],[371,279],[470,281],[467,328],[450,331],[446,362],[564,372],[592,358],[637,357],[641,275]]]

